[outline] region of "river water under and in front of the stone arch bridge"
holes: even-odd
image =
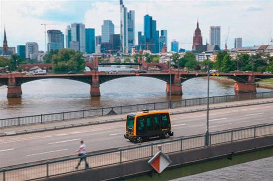
[[[130,70],[100,67],[99,70]],[[90,85],[67,79],[43,79],[22,84],[21,98],[6,98],[7,86],[0,87],[0,118],[74,111],[98,107],[167,101],[166,83],[148,77],[126,77],[100,85],[100,97],[90,96]],[[207,96],[207,81],[195,78],[182,84],[183,96],[173,100]],[[257,88],[258,92],[272,91]],[[234,94],[233,84],[210,81],[210,95]]]

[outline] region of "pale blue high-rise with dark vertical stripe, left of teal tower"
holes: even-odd
[[[85,25],[82,23],[73,23],[71,24],[71,41],[78,42],[78,49],[80,52],[86,52],[86,39],[85,39]],[[69,43],[70,44],[70,43]],[[69,45],[70,48],[71,45]],[[76,47],[76,43],[73,43],[73,49]],[[76,48],[75,48],[76,49]]]

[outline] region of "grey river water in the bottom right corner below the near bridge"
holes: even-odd
[[[212,170],[170,181],[272,181],[273,157]]]

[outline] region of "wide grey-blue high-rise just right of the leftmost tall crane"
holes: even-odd
[[[48,30],[47,52],[64,48],[64,34],[60,30]]]

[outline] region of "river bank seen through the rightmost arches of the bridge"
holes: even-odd
[[[204,77],[204,79],[206,79]],[[235,83],[234,80],[226,78],[226,77],[210,77],[210,79],[215,80],[215,81],[219,81],[221,83],[227,83],[227,84],[233,84]],[[263,81],[259,81],[256,83],[256,86],[259,88],[266,88],[266,89],[273,89],[273,79],[266,79]]]

